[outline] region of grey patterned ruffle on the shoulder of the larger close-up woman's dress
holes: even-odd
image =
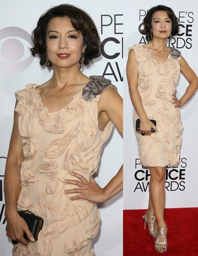
[[[92,101],[97,95],[102,94],[109,87],[113,87],[117,91],[117,87],[112,85],[111,81],[104,76],[91,75],[89,79],[89,83],[82,89],[82,98],[85,101]]]

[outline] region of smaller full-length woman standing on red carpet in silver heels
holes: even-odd
[[[157,5],[144,20],[143,34],[149,41],[129,49],[127,80],[134,106],[133,122],[140,119],[136,138],[140,162],[150,170],[149,205],[143,216],[144,228],[156,238],[155,250],[167,250],[167,225],[164,220],[165,172],[179,162],[182,124],[180,110],[198,88],[198,79],[180,51],[167,47],[167,39],[178,33],[178,19],[171,8]],[[180,100],[176,88],[180,72],[189,85]],[[156,121],[156,126],[150,119]],[[151,133],[151,129],[154,129]],[[157,220],[157,223],[156,223]]]

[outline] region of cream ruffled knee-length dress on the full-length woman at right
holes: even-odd
[[[138,142],[140,162],[143,166],[166,167],[179,162],[181,131],[180,109],[172,104],[180,74],[180,51],[169,47],[171,53],[163,64],[152,59],[151,53],[140,45],[129,48],[136,52],[138,69],[138,91],[143,108],[149,119],[156,120],[158,132],[142,136],[135,132]],[[133,113],[135,130],[136,111]]]

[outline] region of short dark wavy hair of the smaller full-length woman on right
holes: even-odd
[[[143,35],[146,35],[146,39],[148,41],[151,41],[151,22],[152,22],[152,17],[153,17],[153,13],[157,12],[157,11],[166,11],[168,14],[168,17],[171,19],[172,22],[172,31],[171,31],[171,35],[174,37],[174,35],[177,35],[179,32],[179,25],[178,25],[178,18],[176,17],[176,15],[174,14],[173,10],[170,7],[167,7],[165,5],[156,5],[154,7],[152,7],[146,14],[146,16],[143,19],[143,25],[144,25],[144,29],[141,30],[141,33]]]

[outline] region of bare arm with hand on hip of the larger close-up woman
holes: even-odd
[[[101,113],[106,113],[106,118],[113,122],[123,136],[123,101],[120,95],[115,89],[108,88],[101,95],[99,102]],[[71,174],[80,181],[67,180],[65,183],[75,184],[80,188],[65,190],[65,194],[81,193],[70,198],[71,200],[86,199],[94,203],[102,203],[115,196],[123,188],[123,166],[104,188],[101,188],[92,177],[90,177],[90,182],[88,182],[78,173],[73,172]]]

